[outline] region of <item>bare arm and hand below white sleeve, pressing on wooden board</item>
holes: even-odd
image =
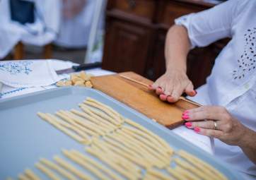
[[[189,51],[187,29],[182,25],[173,25],[165,40],[166,72],[151,87],[160,95],[161,100],[176,102],[183,92],[191,96],[196,94],[186,74]]]

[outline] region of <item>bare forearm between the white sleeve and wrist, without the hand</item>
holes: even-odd
[[[190,40],[187,29],[182,25],[173,25],[168,30],[165,41],[166,71],[176,69],[187,71],[187,54],[190,51]]]

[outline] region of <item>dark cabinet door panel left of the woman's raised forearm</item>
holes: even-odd
[[[150,37],[150,28],[110,20],[105,35],[103,68],[115,72],[134,71],[143,75]]]

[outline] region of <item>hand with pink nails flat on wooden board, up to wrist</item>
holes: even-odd
[[[183,92],[189,96],[197,95],[187,74],[178,70],[166,71],[153,85],[149,85],[149,89],[156,91],[161,100],[168,102],[177,102]]]

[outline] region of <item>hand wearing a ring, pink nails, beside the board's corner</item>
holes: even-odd
[[[182,114],[187,121],[187,128],[205,136],[219,138],[229,145],[239,145],[245,126],[228,113],[226,108],[219,106],[202,106],[190,109]]]

